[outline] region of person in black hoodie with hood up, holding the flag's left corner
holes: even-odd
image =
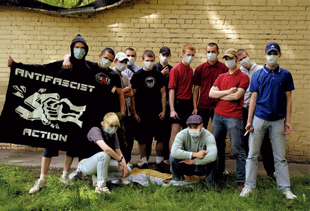
[[[85,57],[88,52],[88,46],[85,41],[85,39],[80,35],[76,35],[74,39],[72,39],[72,43],[70,46],[71,50],[71,58],[70,61],[72,63],[72,70],[66,70],[63,68],[63,61],[54,61],[52,63],[48,63],[45,65],[39,65],[39,64],[23,64],[23,63],[16,63],[12,57],[9,56],[8,59],[8,67],[14,67],[14,68],[21,68],[23,70],[41,70],[41,71],[47,71],[47,72],[57,72],[58,74],[62,76],[68,76],[70,79],[81,79],[83,77],[83,81],[94,84],[94,77],[92,77],[92,74],[90,74],[90,67],[87,65],[85,61]],[[87,103],[89,103],[87,101]],[[90,118],[88,118],[90,119]],[[87,119],[85,120],[87,122]],[[87,123],[86,123],[87,125]],[[84,123],[83,123],[84,128]],[[87,128],[85,129],[87,130]],[[74,157],[77,157],[79,154],[77,147],[70,146],[70,149],[67,150],[66,156],[65,156],[65,164],[63,167],[63,174],[61,176],[61,182],[62,183],[68,183],[68,171],[70,170],[70,166],[72,164],[72,161]],[[41,161],[41,176],[40,179],[38,179],[34,186],[30,189],[29,193],[36,193],[39,192],[41,188],[46,183],[46,174],[48,173],[48,168],[50,167],[50,162],[52,161],[52,157],[58,157],[59,156],[59,150],[53,149],[53,148],[45,148],[43,155],[42,155],[42,161]]]

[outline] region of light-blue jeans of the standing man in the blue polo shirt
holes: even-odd
[[[269,129],[274,166],[276,169],[277,188],[278,190],[289,190],[291,187],[289,181],[289,165],[285,159],[287,137],[283,134],[283,132],[285,132],[285,119],[267,121],[254,116],[252,125],[254,131],[249,135],[249,155],[246,164],[247,179],[245,187],[252,189],[256,188],[258,154],[260,152],[260,145],[262,145],[262,139],[265,136],[265,132]]]

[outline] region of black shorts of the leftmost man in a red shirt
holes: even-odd
[[[192,99],[176,99],[174,101],[174,110],[178,114],[178,118],[172,119],[172,123],[178,123],[182,126],[182,129],[187,128],[186,121],[189,116],[192,115],[194,110]]]

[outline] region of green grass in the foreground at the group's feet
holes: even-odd
[[[258,177],[258,188],[251,197],[240,198],[232,175],[223,190],[192,186],[142,187],[108,184],[110,195],[96,194],[91,180],[62,185],[60,172],[50,174],[48,183],[37,194],[28,190],[37,180],[37,169],[0,164],[0,210],[309,210],[310,174],[291,178],[298,199],[287,200],[267,177]],[[305,198],[302,197],[304,194]]]

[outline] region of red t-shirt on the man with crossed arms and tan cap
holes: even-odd
[[[238,88],[242,88],[247,90],[249,86],[249,77],[247,74],[238,69],[233,74],[229,74],[229,72],[220,74],[213,86],[217,86],[220,91],[229,90],[230,88],[236,87],[239,84]],[[229,117],[234,119],[242,119],[242,105],[243,105],[244,97],[238,99],[238,101],[225,101],[220,99],[216,104],[216,108],[214,109],[214,113],[223,117]]]

